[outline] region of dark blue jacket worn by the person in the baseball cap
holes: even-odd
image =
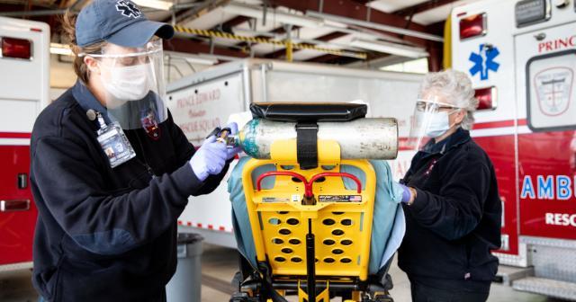
[[[137,157],[112,169],[75,95],[94,97],[80,88],[42,111],[32,131],[33,284],[49,301],[160,301],[175,272],[176,219],[228,165],[200,182],[188,164],[194,147],[168,117],[158,140],[125,130]]]

